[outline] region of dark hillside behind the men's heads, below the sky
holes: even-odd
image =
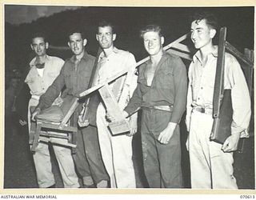
[[[196,10],[198,8],[191,7],[82,7],[38,18],[30,23],[12,25],[6,22],[6,75],[12,69],[22,70],[27,65],[31,57],[30,35],[33,32],[44,31],[52,46],[67,46],[66,34],[70,29],[79,27],[88,39],[87,50],[90,54],[96,54],[96,26],[101,19],[108,19],[116,26],[118,38],[115,45],[129,50],[138,61],[146,56],[139,38],[142,26],[150,23],[162,26],[165,44],[168,44],[190,31],[188,18]],[[218,16],[219,25],[227,27],[227,40],[238,50],[243,52],[244,48],[254,48],[254,7],[208,7],[199,10],[210,10]],[[70,57],[69,50],[50,50],[48,53],[62,58]]]

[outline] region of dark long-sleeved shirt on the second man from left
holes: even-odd
[[[38,107],[43,110],[51,106],[64,86],[66,86],[65,93],[72,96],[86,90],[94,67],[94,60],[95,58],[86,52],[78,62],[75,56],[67,59],[58,77],[41,96]]]

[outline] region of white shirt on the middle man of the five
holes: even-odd
[[[121,110],[127,105],[137,86],[135,65],[136,61],[133,54],[125,50],[118,50],[116,47],[114,47],[112,54],[105,57],[102,52],[98,59],[98,72],[96,73],[98,76],[94,79],[94,85],[106,81],[123,70],[129,70],[126,75],[110,83],[110,89],[113,91]]]

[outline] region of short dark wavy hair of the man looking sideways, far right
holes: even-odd
[[[200,22],[202,19],[206,20],[206,25],[211,29],[218,30],[218,19],[217,17],[207,11],[197,12],[190,17],[190,24],[192,22]]]

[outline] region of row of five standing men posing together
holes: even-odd
[[[96,91],[90,94],[86,105],[86,120],[81,122],[78,117],[82,103],[70,119],[74,126],[84,125],[78,127],[76,153],[71,154],[69,148],[53,144],[66,188],[80,187],[76,172],[82,178],[82,187],[136,187],[132,160],[136,152],[132,150],[132,136],[137,132],[137,110],[142,110],[143,166],[150,187],[183,186],[179,123],[186,110],[192,188],[237,188],[232,152],[237,149],[239,138],[248,134],[250,95],[238,61],[225,54],[224,85],[231,90],[234,110],[232,134],[223,145],[210,141],[218,52],[218,46],[213,45],[212,39],[216,32],[217,24],[212,14],[194,15],[191,40],[198,52],[190,64],[189,84],[186,66],[181,58],[163,50],[164,36],[156,25],[141,30],[150,60],[139,66],[138,76],[135,74],[134,55],[114,46],[117,34],[109,22],[98,25],[96,39],[102,52],[97,58],[86,53],[87,41],[80,30],[73,30],[68,35],[68,46],[74,55],[66,62],[46,54],[48,42],[43,35],[33,36],[31,48],[36,56],[30,62],[25,82],[32,94],[29,108],[36,106],[36,109],[32,114],[29,110],[29,123],[58,98],[65,101],[90,86],[105,82],[114,74],[128,71],[110,82],[110,89],[129,121],[130,133],[111,134],[108,123],[118,119],[108,112]],[[39,142],[33,156],[38,186],[54,187],[47,144]]]

